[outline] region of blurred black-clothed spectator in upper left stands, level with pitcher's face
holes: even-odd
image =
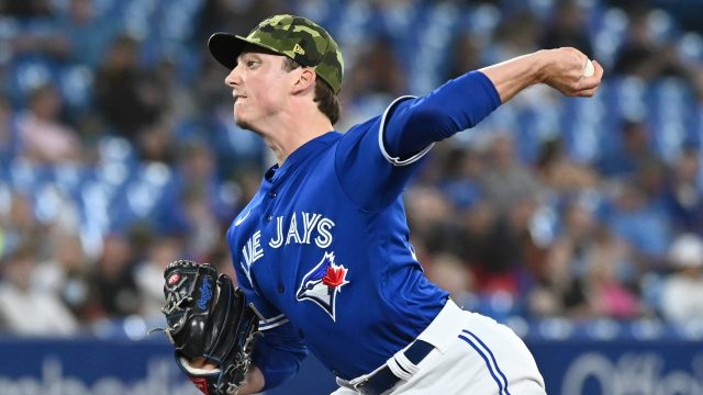
[[[97,108],[114,133],[136,140],[161,115],[166,98],[158,80],[140,65],[140,42],[118,36],[94,81]]]

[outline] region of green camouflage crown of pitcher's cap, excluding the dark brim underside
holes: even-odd
[[[332,36],[311,20],[275,15],[259,23],[246,37],[235,37],[312,67],[335,93],[339,92],[344,70],[342,52]]]

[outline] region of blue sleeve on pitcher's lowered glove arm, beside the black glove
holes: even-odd
[[[264,374],[264,390],[270,390],[298,373],[302,361],[308,357],[308,348],[286,315],[259,295],[256,280],[236,263],[236,256],[233,256],[233,261],[239,289],[244,291],[247,303],[254,304],[261,316],[259,331],[263,336],[256,342],[252,359]]]

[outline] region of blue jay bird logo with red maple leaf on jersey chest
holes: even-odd
[[[346,280],[347,270],[344,264],[335,264],[334,252],[325,252],[320,263],[303,276],[295,298],[314,302],[336,321],[337,294],[349,283]]]

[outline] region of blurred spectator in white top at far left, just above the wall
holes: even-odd
[[[2,260],[0,323],[27,336],[67,336],[78,331],[70,312],[54,295],[32,287],[36,268],[34,246],[23,245]]]

